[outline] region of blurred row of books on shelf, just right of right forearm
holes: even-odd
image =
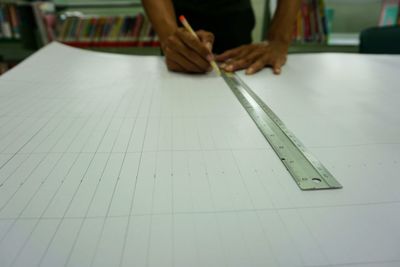
[[[323,0],[302,0],[293,31],[294,43],[326,43],[327,19]]]

